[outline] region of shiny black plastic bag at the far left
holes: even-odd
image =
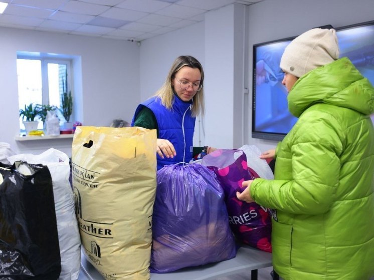
[[[25,162],[0,163],[0,278],[54,280],[60,272],[48,167]]]

